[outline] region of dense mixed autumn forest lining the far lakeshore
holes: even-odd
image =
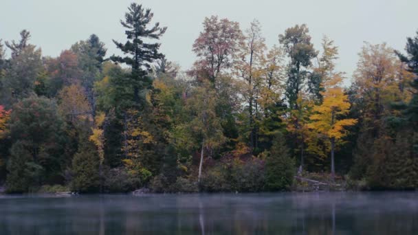
[[[6,192],[418,188],[415,29],[402,52],[364,43],[351,75],[305,24],[267,47],[259,21],[208,16],[182,69],[160,52],[167,28],[152,10],[132,3],[121,17],[125,41],[91,34],[57,57],[28,30],[0,40]]]

